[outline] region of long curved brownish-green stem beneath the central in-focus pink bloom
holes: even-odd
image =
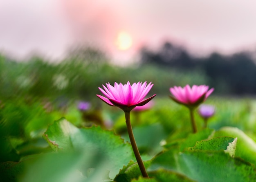
[[[132,132],[132,125],[131,125],[131,122],[130,122],[130,111],[125,111],[125,118],[126,118],[126,126],[127,126],[127,130],[128,130],[128,134],[129,134],[129,138],[130,138],[130,143],[132,145],[132,149],[133,149],[133,152],[135,154],[135,158],[138,162],[138,165],[139,165],[139,169],[142,173],[142,176],[144,178],[149,178],[148,177],[148,173],[146,171],[146,168],[143,164],[143,161],[141,159],[141,156],[139,154],[139,149],[137,147],[137,144],[135,142],[135,138],[134,138],[134,135],[133,135],[133,132]]]

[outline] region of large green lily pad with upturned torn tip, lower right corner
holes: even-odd
[[[148,170],[165,168],[182,173],[198,182],[250,182],[256,179],[254,165],[225,153],[231,137],[202,140],[180,153],[178,147],[157,156]]]

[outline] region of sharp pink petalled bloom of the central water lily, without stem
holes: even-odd
[[[156,95],[154,94],[148,99],[143,100],[153,87],[151,82],[147,85],[146,81],[143,84],[142,82],[138,82],[130,85],[130,82],[128,81],[124,85],[122,83],[117,84],[115,82],[114,87],[111,86],[110,83],[106,83],[107,87],[104,85],[102,86],[104,90],[102,88],[99,88],[99,90],[106,97],[101,95],[97,96],[108,105],[120,107],[124,111],[130,111],[136,106],[145,105]]]

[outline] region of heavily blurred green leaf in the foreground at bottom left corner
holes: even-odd
[[[41,153],[20,162],[0,163],[0,181],[101,182],[106,179],[107,167],[108,162],[100,152]]]

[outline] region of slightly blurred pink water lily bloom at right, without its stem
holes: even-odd
[[[189,107],[196,107],[213,92],[214,88],[210,90],[209,86],[201,85],[196,86],[193,85],[190,88],[189,85],[186,85],[184,88],[176,87],[170,88],[170,92],[173,96],[170,96],[175,102],[189,106]]]

